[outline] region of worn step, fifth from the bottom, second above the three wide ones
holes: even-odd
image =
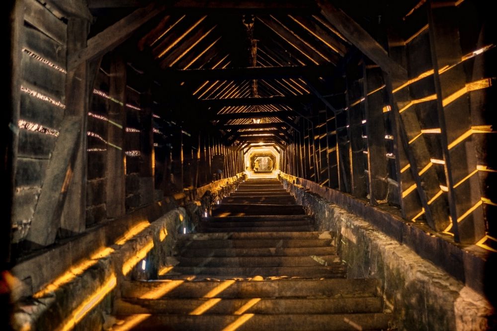
[[[178,266],[197,267],[259,267],[259,266],[341,266],[337,255],[269,256],[269,257],[183,257],[177,256]]]

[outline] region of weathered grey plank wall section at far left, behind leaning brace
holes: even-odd
[[[65,113],[67,25],[39,2],[27,0],[21,39],[13,243],[28,234]]]

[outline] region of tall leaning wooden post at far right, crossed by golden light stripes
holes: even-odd
[[[453,4],[431,1],[428,24],[443,169],[452,223],[450,231],[456,241],[474,244],[485,236],[485,223],[478,176],[465,179],[469,174],[475,174],[477,169],[471,134],[460,141],[462,136],[471,132],[471,115],[467,95],[464,92],[457,94],[466,91],[466,74],[460,65],[462,51],[457,10]],[[450,69],[442,71],[445,67]]]

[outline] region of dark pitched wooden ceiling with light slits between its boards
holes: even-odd
[[[94,30],[121,16],[143,19],[130,40],[153,60],[149,71],[166,76],[225,143],[285,144],[352,48],[320,2],[327,1],[88,0],[88,7]]]

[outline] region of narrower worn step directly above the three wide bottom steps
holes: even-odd
[[[247,277],[345,277],[344,265],[314,266],[181,266],[176,265],[159,279],[184,279],[191,275],[202,275],[204,278],[247,278]]]

